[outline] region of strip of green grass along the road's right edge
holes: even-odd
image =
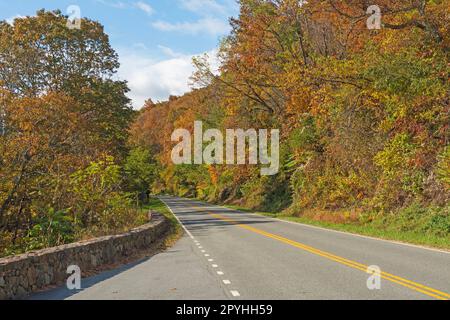
[[[226,208],[239,210],[242,212],[255,213],[266,217],[277,218],[281,220],[297,222],[316,227],[322,227],[326,229],[344,231],[353,234],[359,234],[364,236],[370,236],[374,238],[380,238],[385,240],[393,240],[404,243],[410,243],[415,245],[421,245],[432,248],[439,248],[450,250],[450,238],[438,237],[436,235],[427,234],[417,231],[404,231],[395,230],[388,227],[383,227],[381,223],[374,221],[372,223],[356,224],[356,223],[331,223],[326,221],[314,220],[308,217],[296,217],[283,215],[282,213],[270,213],[270,212],[255,212],[248,208],[243,208],[235,205],[223,205]],[[393,227],[394,228],[394,227]]]

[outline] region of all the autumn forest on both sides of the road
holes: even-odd
[[[450,235],[449,0],[240,0],[220,70],[133,111],[103,27],[0,22],[0,256],[120,232],[149,193]],[[149,75],[151,76],[151,75]],[[280,171],[174,165],[171,134],[280,129]]]

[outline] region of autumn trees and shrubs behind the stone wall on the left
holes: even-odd
[[[99,23],[0,22],[0,256],[145,222],[123,163],[135,113]]]

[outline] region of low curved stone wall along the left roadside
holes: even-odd
[[[83,274],[154,249],[169,228],[166,218],[153,214],[150,223],[125,234],[0,259],[0,300],[25,298],[32,292],[63,284],[71,265],[79,266]]]

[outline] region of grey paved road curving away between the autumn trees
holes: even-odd
[[[85,279],[80,292],[32,298],[450,299],[448,252],[161,199],[187,230],[174,247]],[[369,266],[381,270],[380,289],[368,289]]]

